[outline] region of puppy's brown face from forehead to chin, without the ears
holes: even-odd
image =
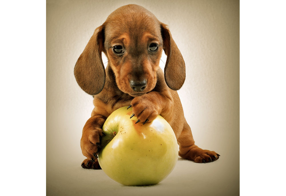
[[[107,19],[104,48],[118,88],[136,97],[156,85],[163,41],[156,18],[130,15],[115,13]]]

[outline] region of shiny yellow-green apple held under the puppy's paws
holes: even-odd
[[[123,185],[154,185],[165,179],[178,161],[178,143],[170,124],[158,116],[135,124],[132,108],[110,114],[102,129],[98,162],[103,171]]]

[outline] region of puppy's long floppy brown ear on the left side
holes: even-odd
[[[100,93],[105,84],[105,69],[101,58],[104,52],[104,26],[95,31],[74,66],[74,76],[82,90],[90,95]]]

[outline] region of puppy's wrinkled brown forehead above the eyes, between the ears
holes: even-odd
[[[162,42],[160,22],[153,14],[144,12],[113,13],[104,24],[107,45],[120,41],[129,43]]]

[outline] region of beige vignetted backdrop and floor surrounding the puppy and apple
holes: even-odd
[[[196,144],[221,155],[208,164],[179,158],[150,187],[126,187],[80,166],[82,128],[93,104],[76,83],[74,65],[94,29],[130,3],[169,25],[186,63],[178,91],[186,120]],[[239,195],[239,1],[47,0],[46,36],[47,195]]]

